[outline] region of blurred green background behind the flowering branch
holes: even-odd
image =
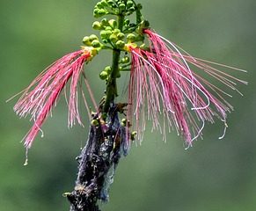
[[[0,1],[0,210],[69,210],[62,193],[71,191],[77,174],[75,157],[87,138],[87,127],[67,128],[63,100],[48,118],[29,151],[20,140],[31,122],[13,113],[21,91],[42,69],[81,45],[91,34],[93,4],[97,1]],[[235,112],[223,140],[223,124],[208,125],[204,140],[185,150],[175,132],[168,142],[146,134],[121,160],[103,210],[241,211],[256,210],[256,2],[255,0],[141,0],[151,26],[197,57],[248,69],[239,75],[241,98],[230,99]],[[104,83],[99,71],[106,55],[87,68],[99,100]],[[99,85],[102,84],[102,85]]]

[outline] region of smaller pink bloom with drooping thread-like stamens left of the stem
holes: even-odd
[[[37,76],[24,91],[22,91],[23,94],[14,106],[14,111],[20,117],[26,117],[30,114],[31,120],[34,121],[33,127],[31,127],[24,137],[26,149],[31,147],[33,140],[39,131],[42,133],[40,127],[48,117],[53,106],[55,106],[60,93],[68,81],[70,81],[69,102],[67,102],[69,106],[69,127],[72,127],[76,120],[82,125],[77,106],[77,85],[79,76],[81,73],[84,74],[84,63],[90,61],[94,55],[95,54],[90,47],[84,47],[82,50],[70,53],[69,55],[64,55],[61,59],[41,72],[40,75]],[[91,93],[85,77],[84,82]],[[93,99],[92,95],[91,99]],[[88,108],[85,98],[84,103]],[[94,105],[96,104],[94,103]]]

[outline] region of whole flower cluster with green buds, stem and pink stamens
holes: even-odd
[[[227,113],[230,113],[233,107],[224,97],[230,97],[230,94],[206,78],[211,77],[226,86],[225,88],[238,91],[237,83],[246,82],[225,73],[222,68],[243,72],[245,70],[204,61],[187,54],[182,48],[150,30],[150,24],[143,20],[141,10],[142,5],[135,4],[135,1],[101,0],[94,7],[94,17],[113,15],[117,18],[95,21],[92,28],[99,30],[99,37],[95,34],[85,36],[85,47],[53,63],[23,91],[14,110],[21,117],[31,114],[34,121],[33,127],[25,137],[26,148],[31,147],[61,91],[65,91],[64,87],[68,81],[69,127],[76,121],[83,125],[77,108],[78,80],[80,76],[84,76],[84,63],[91,61],[102,49],[112,50],[113,62],[112,66],[106,66],[99,74],[99,77],[106,81],[106,95],[99,109],[84,76],[96,116],[99,116],[100,120],[91,117],[82,91],[84,104],[92,118],[92,126],[100,125],[103,133],[107,133],[106,124],[109,122],[106,123],[106,120],[110,107],[118,105],[115,102],[118,94],[116,79],[121,76],[122,71],[128,70],[128,102],[125,104],[128,104],[127,125],[135,128],[138,140],[143,140],[147,120],[152,121],[152,130],[158,129],[164,140],[167,130],[176,130],[178,135],[183,136],[187,147],[201,137],[206,121],[214,123],[216,118],[223,120],[226,128]],[[133,13],[135,23],[128,18]],[[127,139],[134,139],[135,134],[128,134]]]

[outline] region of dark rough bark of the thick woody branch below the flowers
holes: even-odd
[[[128,151],[128,131],[121,126],[116,105],[111,106],[106,124],[93,117],[98,126],[91,126],[86,146],[77,156],[78,174],[74,191],[66,193],[70,211],[99,211],[98,200],[108,200],[108,189],[121,155]]]

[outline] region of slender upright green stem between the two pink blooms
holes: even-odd
[[[122,14],[118,15],[117,24],[118,29],[123,28],[124,16]],[[113,62],[112,62],[112,71],[109,76],[108,82],[106,84],[106,101],[103,107],[103,112],[107,113],[110,107],[110,103],[113,102],[114,98],[117,97],[117,86],[116,86],[116,76],[119,72],[119,60],[120,60],[121,50],[113,48]]]

